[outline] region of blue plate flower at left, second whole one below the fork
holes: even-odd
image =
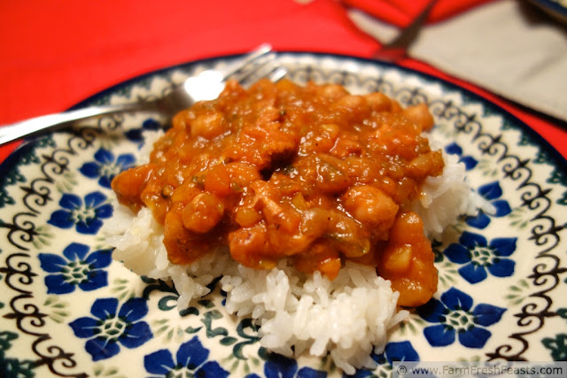
[[[89,193],[83,199],[71,193],[64,193],[59,201],[63,210],[51,214],[50,225],[58,228],[75,227],[80,234],[95,235],[102,227],[102,219],[113,215],[112,204],[106,203],[106,196],[99,191]]]

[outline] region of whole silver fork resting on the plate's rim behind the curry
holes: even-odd
[[[27,135],[35,135],[64,127],[75,120],[84,120],[104,114],[117,112],[159,112],[169,118],[176,112],[190,107],[199,100],[210,100],[221,93],[224,83],[234,78],[241,83],[262,77],[278,81],[286,74],[283,66],[277,64],[271,46],[262,44],[245,55],[234,68],[224,73],[207,70],[192,76],[176,86],[166,96],[151,101],[137,101],[126,104],[89,106],[69,112],[59,112],[22,120],[12,125],[0,127],[0,145],[15,141]]]

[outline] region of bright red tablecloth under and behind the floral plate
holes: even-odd
[[[334,0],[4,1],[0,35],[0,125],[63,111],[141,73],[244,52],[261,42],[270,42],[276,50],[362,58],[379,46],[353,26]],[[563,122],[413,59],[400,64],[454,81],[500,104],[567,157]],[[16,145],[0,148],[0,161]]]

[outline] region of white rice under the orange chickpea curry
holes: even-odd
[[[147,140],[148,147],[141,150],[142,163],[152,144]],[[412,209],[422,217],[430,237],[439,237],[461,214],[475,214],[483,205],[465,181],[464,166],[454,156],[444,159],[443,174],[427,179],[423,196]],[[147,208],[134,214],[120,206],[105,224],[105,233],[115,247],[115,260],[136,274],[174,282],[180,309],[208,294],[206,285],[222,276],[226,310],[256,320],[262,346],[285,356],[329,353],[346,374],[375,367],[371,351],[382,352],[388,330],[408,315],[396,307],[399,293],[369,266],[347,262],[332,282],[318,272],[300,274],[284,260],[272,270],[247,268],[232,260],[228,251],[208,254],[189,266],[174,266],[162,243],[163,226]]]

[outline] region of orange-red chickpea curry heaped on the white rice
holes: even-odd
[[[430,241],[409,210],[443,171],[422,131],[424,104],[402,109],[381,93],[334,84],[229,81],[212,101],[178,113],[150,162],[113,180],[121,204],[164,225],[174,264],[228,246],[244,266],[290,258],[334,279],[346,260],[376,266],[399,304],[437,289]]]

